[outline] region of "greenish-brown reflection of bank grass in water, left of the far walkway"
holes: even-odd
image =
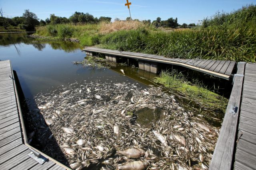
[[[61,49],[67,53],[73,52],[80,47],[78,43],[73,43],[70,41],[52,41],[48,43],[51,45],[52,49]]]

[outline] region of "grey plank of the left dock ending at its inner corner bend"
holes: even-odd
[[[0,155],[0,166],[1,166],[4,162],[10,160],[11,158],[13,158],[13,157],[15,157],[16,155],[18,155],[18,154],[24,152],[24,151],[27,150],[27,149],[28,149],[28,147],[27,147],[26,145],[20,145],[20,146],[14,148],[14,149],[12,149],[12,150],[10,150],[10,151],[8,151],[8,152],[2,154],[2,155]],[[1,167],[1,168],[2,168],[2,167]]]

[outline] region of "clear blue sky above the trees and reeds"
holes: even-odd
[[[166,20],[178,18],[178,23],[198,23],[217,11],[231,12],[256,0],[129,0],[132,19]],[[45,20],[50,14],[70,17],[75,11],[88,12],[94,17],[108,16],[122,20],[129,16],[126,0],[0,0],[0,8],[6,17],[22,16],[29,9]]]

